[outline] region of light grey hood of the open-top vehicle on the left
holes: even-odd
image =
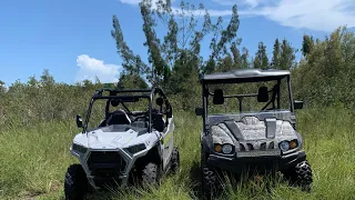
[[[87,136],[88,134],[88,136]],[[131,128],[109,126],[88,133],[77,134],[74,142],[91,149],[118,149],[134,143],[139,131]]]

